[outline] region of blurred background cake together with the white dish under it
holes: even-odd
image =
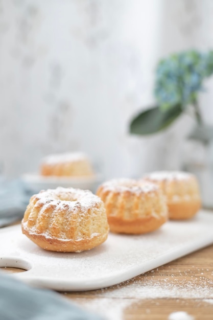
[[[95,192],[102,181],[102,176],[94,170],[85,153],[68,152],[44,157],[39,172],[23,174],[22,181],[25,189],[32,193],[59,186]]]

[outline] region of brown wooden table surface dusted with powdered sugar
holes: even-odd
[[[120,285],[60,294],[110,320],[213,320],[213,245]]]

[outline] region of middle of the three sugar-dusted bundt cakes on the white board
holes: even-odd
[[[97,195],[105,203],[110,231],[114,233],[148,233],[168,220],[165,197],[150,182],[113,179],[104,182]]]

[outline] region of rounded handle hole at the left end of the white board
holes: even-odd
[[[19,257],[0,258],[0,268],[7,273],[28,271],[32,268],[31,264]]]

